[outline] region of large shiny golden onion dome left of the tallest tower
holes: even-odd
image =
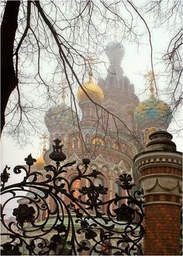
[[[83,89],[85,90],[83,90]],[[78,100],[79,102],[90,100],[88,99],[88,96],[91,98],[91,100],[94,100],[96,103],[102,103],[104,100],[104,93],[100,86],[96,85],[94,82],[89,81],[82,85],[82,88],[78,88]],[[88,96],[86,95],[86,93]]]

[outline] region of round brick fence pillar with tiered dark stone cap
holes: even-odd
[[[180,255],[182,154],[171,139],[154,132],[134,158],[145,199],[145,255]]]

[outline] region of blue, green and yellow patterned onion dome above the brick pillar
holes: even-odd
[[[172,118],[171,109],[162,100],[157,100],[154,96],[150,96],[148,100],[141,102],[134,112],[136,123],[139,124],[140,128],[143,125],[154,124],[165,124],[167,127]]]

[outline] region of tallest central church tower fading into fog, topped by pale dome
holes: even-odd
[[[139,99],[134,93],[133,84],[124,75],[121,67],[125,49],[122,44],[111,42],[105,47],[105,53],[110,62],[108,75],[105,80],[99,79],[98,81],[105,93],[103,106],[119,117],[120,121],[116,120],[116,124],[121,132],[127,134],[136,132],[136,121],[133,112],[139,103]],[[116,124],[112,122],[112,116],[109,116],[109,127],[112,131],[116,131]]]

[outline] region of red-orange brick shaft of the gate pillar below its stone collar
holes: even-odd
[[[145,208],[145,255],[180,254],[180,207],[147,205]]]

